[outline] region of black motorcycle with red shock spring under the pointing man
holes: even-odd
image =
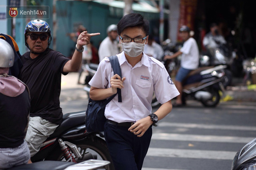
[[[85,111],[65,114],[61,125],[31,157],[33,163],[43,160],[81,163],[90,159],[109,161],[106,169],[114,169],[104,134],[86,131]]]

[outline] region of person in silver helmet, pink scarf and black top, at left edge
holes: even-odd
[[[0,39],[0,170],[26,164],[30,158],[24,140],[28,126],[30,98],[26,85],[9,68],[14,64],[14,51]]]

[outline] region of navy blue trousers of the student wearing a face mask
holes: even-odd
[[[128,127],[105,123],[104,136],[115,170],[141,170],[149,149],[152,126],[142,137],[128,131]]]

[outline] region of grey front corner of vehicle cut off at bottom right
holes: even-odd
[[[234,156],[231,170],[255,170],[256,138],[247,143]]]

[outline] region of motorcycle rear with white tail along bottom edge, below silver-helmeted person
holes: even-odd
[[[18,165],[7,170],[96,170],[105,168],[109,163],[109,161],[102,160],[87,160],[78,164],[74,162],[41,161]]]

